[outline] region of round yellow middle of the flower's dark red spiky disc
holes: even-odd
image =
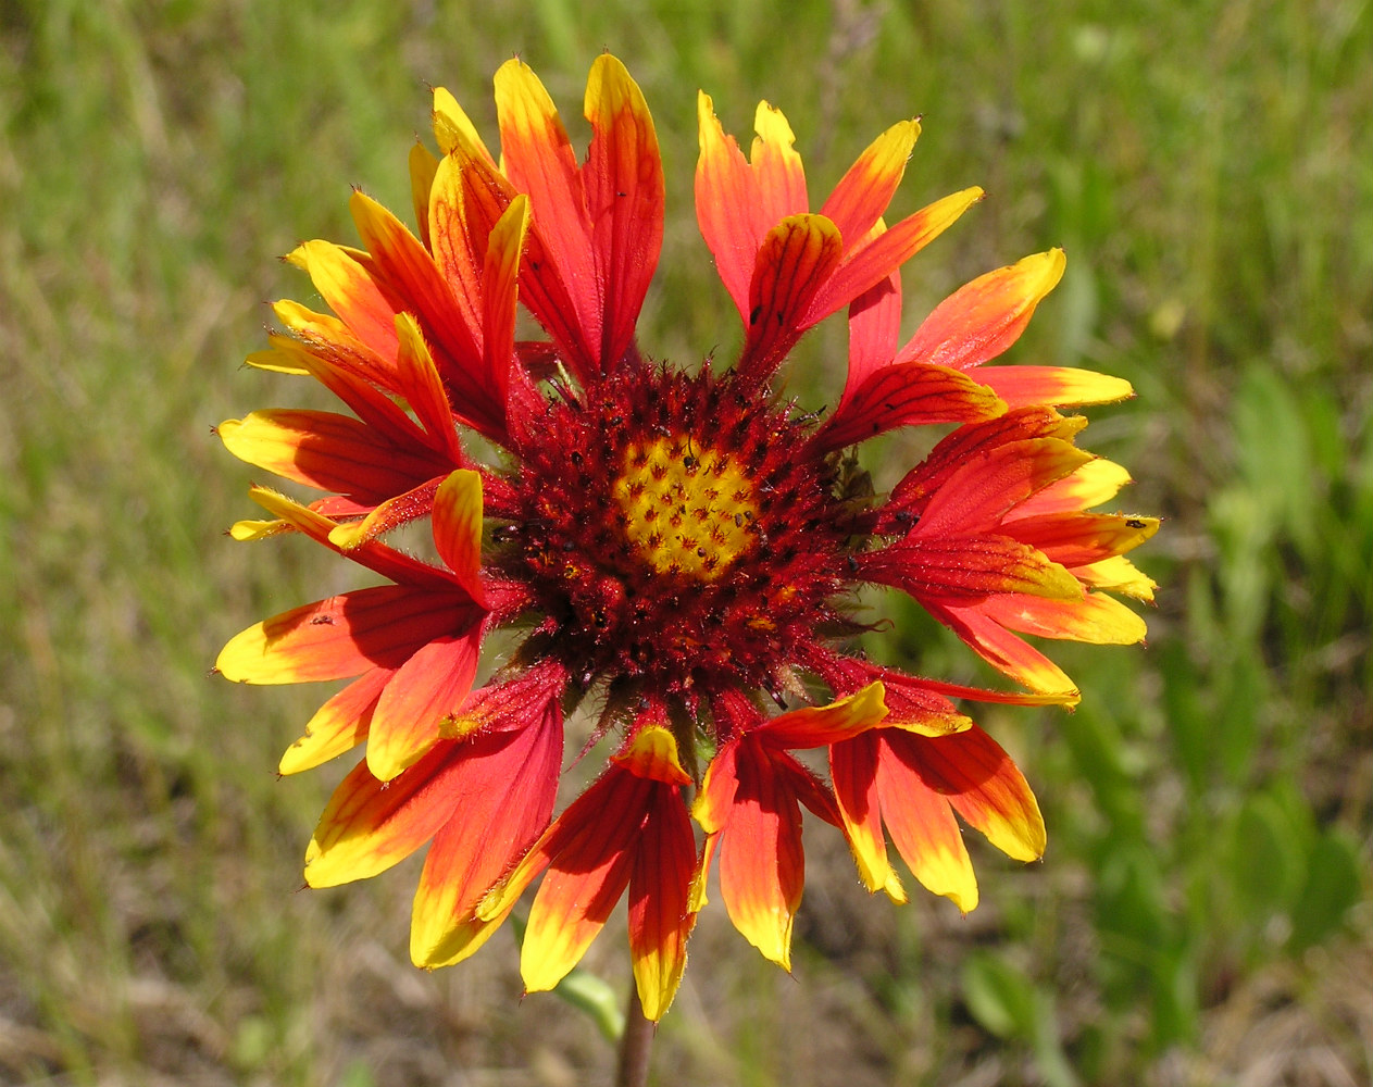
[[[732,457],[685,435],[630,445],[611,493],[625,535],[659,574],[715,581],[758,534],[752,480]]]

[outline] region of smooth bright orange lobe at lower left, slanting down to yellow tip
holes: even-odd
[[[482,649],[482,618],[470,609],[454,624],[406,660],[382,692],[367,738],[367,766],[390,781],[413,766],[439,740],[439,722],[454,712],[472,689]]]

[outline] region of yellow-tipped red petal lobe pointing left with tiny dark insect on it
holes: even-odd
[[[453,630],[452,597],[379,585],[319,600],[250,626],[214,667],[236,683],[308,683],[400,667],[416,648]]]

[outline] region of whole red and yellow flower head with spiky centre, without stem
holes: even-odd
[[[674,368],[636,339],[665,203],[638,86],[596,60],[581,163],[522,62],[497,71],[496,104],[498,159],[435,92],[441,156],[416,145],[409,161],[415,232],[354,192],[365,248],[306,242],[290,257],[332,313],[279,302],[286,332],[249,361],[319,380],[350,413],[270,409],[218,428],[233,454],[323,491],[301,504],[254,487],[270,517],[235,524],[236,539],[305,535],[389,582],[257,623],[217,662],[239,682],[349,681],[281,759],[291,774],[367,745],[320,819],[306,881],[373,876],[431,843],[411,951],[441,966],[541,880],[529,990],[556,985],[627,893],[654,1020],[717,855],[730,920],[788,965],[802,808],[846,836],[869,889],[906,898],[890,840],[921,884],[971,910],[956,815],[1019,859],[1041,854],[1043,822],[954,700],[1074,704],[1071,679],[1022,635],[1138,641],[1144,624],[1108,593],[1153,589],[1123,554],[1157,522],[1090,512],[1129,476],[1079,449],[1085,420],[1059,410],[1130,387],[986,365],[1059,281],[1061,251],[973,280],[898,347],[901,265],[980,189],[888,228],[920,132],[903,121],[810,211],[781,113],[759,106],[746,159],[702,95],[697,220],[744,346],[724,371]],[[520,306],[544,338],[516,339]],[[774,377],[844,309],[847,379],[817,420]],[[953,430],[875,495],[851,447],[931,423]],[[432,549],[416,557],[394,533],[423,520]],[[1026,690],[868,662],[864,585],[908,593]],[[483,663],[496,630],[514,648]],[[593,740],[612,737],[614,753],[555,818],[578,704],[600,707]],[[828,780],[805,749],[828,755]]]

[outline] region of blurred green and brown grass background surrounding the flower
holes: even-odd
[[[584,147],[603,48],[666,159],[648,353],[739,342],[691,202],[697,88],[746,139],[758,99],[780,106],[817,206],[919,113],[892,213],[989,199],[908,265],[908,323],[1065,246],[1009,358],[1134,383],[1082,441],[1131,468],[1127,512],[1167,517],[1135,556],[1163,586],[1148,646],[1056,646],[1075,714],[975,710],[1039,796],[1045,861],[969,836],[983,904],[962,918],[869,899],[838,836],[809,834],[795,977],[717,900],[655,1082],[1368,1084],[1366,0],[3,0],[0,1082],[608,1076],[582,1013],[519,1001],[509,935],[409,965],[415,861],[298,893],[346,769],[275,775],[317,693],[207,674],[242,627],[356,582],[301,541],[222,535],[255,508],[210,427],[314,395],[240,365],[266,301],[316,301],[276,258],[354,243],[349,185],[404,214],[428,86],[494,141],[490,77],[515,52]],[[839,323],[811,334],[788,391],[833,402],[843,346]],[[912,441],[868,450],[879,480]],[[887,613],[876,656],[991,681],[913,608]],[[618,924],[586,963],[621,994]]]

